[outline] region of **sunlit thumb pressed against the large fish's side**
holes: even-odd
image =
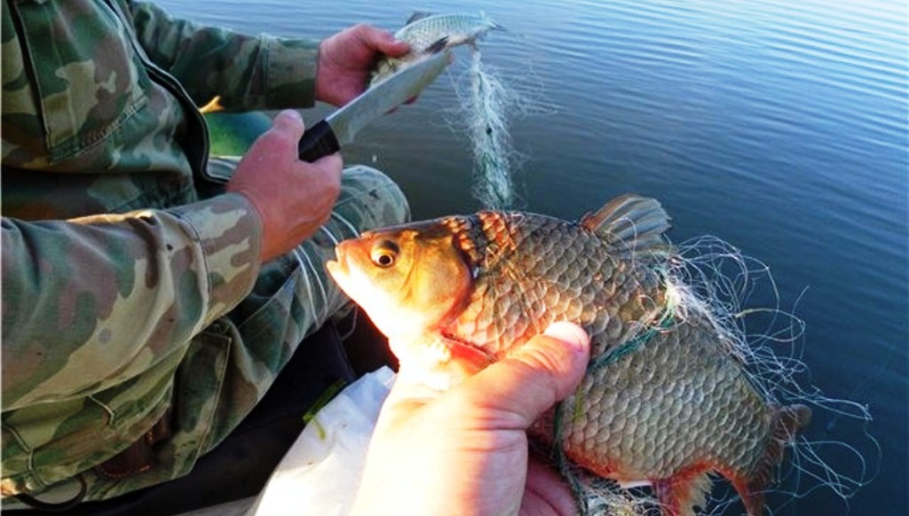
[[[484,404],[517,414],[527,428],[581,382],[590,357],[590,338],[574,323],[554,323],[464,382]]]

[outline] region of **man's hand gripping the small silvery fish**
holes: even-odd
[[[347,104],[363,93],[366,78],[382,55],[399,57],[410,45],[371,25],[355,25],[319,45],[315,98],[329,104]]]

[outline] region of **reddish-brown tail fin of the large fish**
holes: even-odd
[[[733,481],[748,516],[761,516],[764,513],[764,491],[773,479],[776,467],[783,461],[785,446],[793,442],[795,434],[809,422],[811,409],[804,405],[778,407],[774,411],[770,441],[767,442],[764,456],[758,462],[753,476],[743,481]]]

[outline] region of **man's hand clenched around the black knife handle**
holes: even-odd
[[[265,263],[287,253],[328,219],[341,191],[340,154],[313,164],[298,158],[303,119],[295,111],[275,117],[237,165],[227,192],[242,193],[262,219]]]

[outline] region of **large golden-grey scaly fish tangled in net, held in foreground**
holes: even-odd
[[[619,482],[646,481],[664,514],[694,513],[707,473],[746,511],[810,419],[754,387],[704,304],[670,273],[669,218],[625,195],[570,223],[481,212],[364,233],[328,269],[395,343],[401,366],[445,389],[550,323],[592,337],[584,380],[534,424],[534,438]]]

